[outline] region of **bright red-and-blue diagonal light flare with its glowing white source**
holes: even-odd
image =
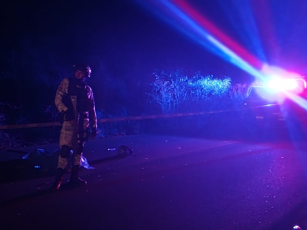
[[[263,63],[223,33],[212,21],[204,17],[185,0],[148,0],[146,4],[145,1],[135,1],[143,6],[147,5],[147,9],[208,51],[253,75],[255,81],[262,82],[262,88],[257,88],[259,94],[260,91],[262,94],[263,91],[267,91],[267,93],[271,91],[276,96],[275,92],[280,92],[282,96],[278,97],[279,102],[288,97],[307,109],[304,102],[306,98],[297,96],[306,89],[306,82],[301,79],[301,75]],[[302,87],[301,84],[304,86]],[[255,84],[254,86],[259,85]],[[267,96],[267,98],[272,101],[275,96]]]

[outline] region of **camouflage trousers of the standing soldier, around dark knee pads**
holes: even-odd
[[[73,153],[73,162],[72,162],[73,165],[81,164],[82,151],[86,136],[86,132],[84,131],[87,130],[88,125],[89,125],[89,120],[83,119],[83,130],[82,130],[83,132],[78,133],[77,136],[78,151],[76,153],[75,152]],[[60,149],[62,149],[63,145],[66,145],[71,149],[73,148],[72,146],[73,128],[74,128],[73,121],[64,121],[60,134]],[[82,128],[82,126],[80,128]],[[58,168],[63,168],[63,169],[66,168],[68,164],[68,157],[69,155],[67,157],[62,157],[61,155],[59,155]]]

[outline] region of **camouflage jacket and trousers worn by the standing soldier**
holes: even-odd
[[[90,126],[91,128],[97,128],[97,117],[95,113],[95,102],[94,102],[93,92],[91,88],[84,83],[81,84],[81,86],[79,86],[78,83],[80,82],[81,81],[78,81],[77,79],[68,79],[68,78],[63,79],[63,81],[60,83],[59,87],[57,88],[56,97],[54,101],[60,113],[65,114],[65,112],[67,112],[68,109],[72,109],[68,108],[69,106],[67,105],[67,103],[65,104],[64,102],[64,97],[69,97],[70,96],[69,94],[71,94],[71,92],[68,92],[68,89],[70,89],[71,87],[77,87],[79,89],[77,88],[76,89],[81,92],[81,95],[77,95],[77,111],[79,111],[80,114],[79,132],[77,134],[78,151],[74,153],[74,162],[72,165],[81,164],[82,151],[88,127]],[[76,84],[76,86],[68,87],[69,84]],[[72,95],[73,94],[74,92],[72,92]],[[81,98],[82,96],[83,98]],[[83,103],[83,105],[80,105],[80,103],[78,104],[78,101],[79,102],[85,101],[85,103]],[[60,148],[63,149],[63,146],[65,147],[67,146],[68,148],[72,149],[74,120],[65,121],[65,117],[66,114],[64,116],[64,122],[60,133]],[[57,167],[64,169],[67,166],[67,164],[68,164],[68,156],[65,155],[63,157],[59,155]]]

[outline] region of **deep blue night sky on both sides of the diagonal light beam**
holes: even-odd
[[[306,1],[188,2],[261,61],[306,73]],[[1,101],[23,105],[27,121],[45,121],[45,105],[53,105],[56,86],[73,76],[77,62],[92,68],[87,83],[98,109],[125,106],[130,114],[146,112],[155,69],[226,75],[237,83],[253,79],[135,1],[5,4]]]

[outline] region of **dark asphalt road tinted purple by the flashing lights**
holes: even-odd
[[[135,156],[103,160],[126,144]],[[137,135],[92,140],[87,186],[1,184],[1,229],[307,229],[307,145]],[[92,155],[91,155],[92,154]],[[65,181],[69,178],[65,174]]]

